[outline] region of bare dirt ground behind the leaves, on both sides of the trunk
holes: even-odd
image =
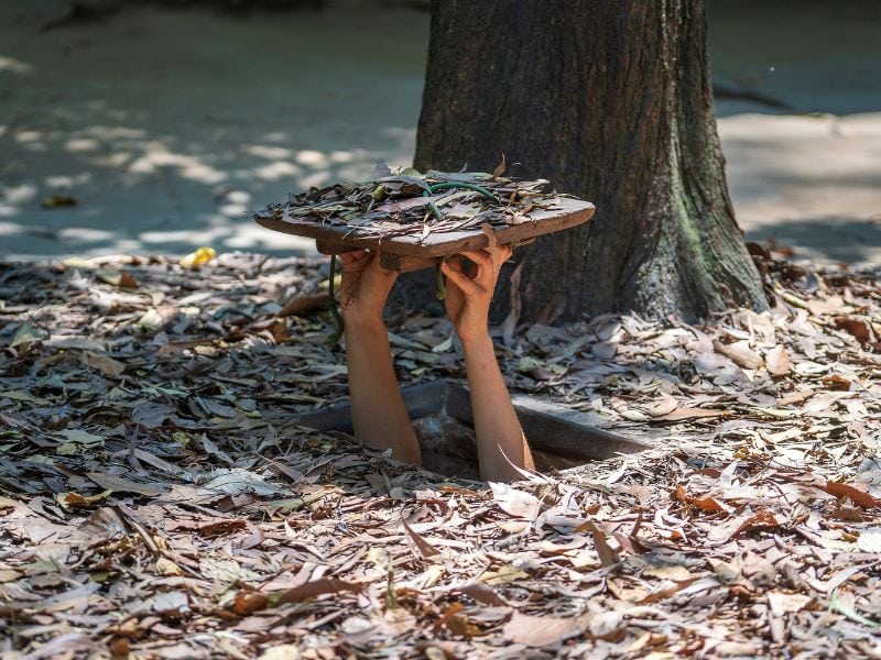
[[[790,108],[718,99],[739,221],[796,258],[879,264],[881,9],[792,4],[710,4],[717,82]],[[131,9],[41,31],[65,7],[0,6],[0,256],[308,251],[248,211],[411,161],[425,12]]]

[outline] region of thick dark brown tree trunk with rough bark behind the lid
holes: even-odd
[[[597,206],[520,255],[524,320],[766,306],[728,197],[706,37],[704,0],[433,1],[416,167],[492,172],[504,153],[511,175]]]

